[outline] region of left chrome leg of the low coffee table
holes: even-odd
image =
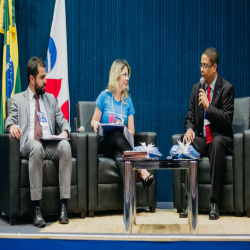
[[[132,233],[133,223],[133,168],[130,161],[125,162],[125,178],[124,178],[124,208],[123,208],[123,221],[125,225],[125,231]]]

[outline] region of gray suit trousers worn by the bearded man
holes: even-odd
[[[59,162],[60,199],[70,198],[72,154],[67,140],[45,141],[43,145],[28,140],[21,149],[21,157],[29,160],[29,181],[31,200],[42,199],[43,161]]]

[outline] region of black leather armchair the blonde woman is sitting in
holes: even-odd
[[[123,208],[123,183],[118,174],[115,161],[99,157],[97,153],[97,135],[91,128],[91,120],[95,110],[94,102],[78,102],[75,127],[83,126],[87,134],[88,145],[88,213],[94,216],[95,211],[117,210]],[[139,142],[156,145],[155,133],[137,133],[135,145]],[[156,171],[150,171],[156,178]],[[144,189],[137,178],[137,207],[150,207],[151,212],[156,208],[156,184]]]

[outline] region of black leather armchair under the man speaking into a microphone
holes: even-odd
[[[225,179],[221,188],[220,211],[236,212],[240,216],[245,210],[250,216],[250,130],[249,97],[236,98],[233,118],[233,155],[225,157]],[[172,136],[172,144],[177,144],[182,134]],[[186,206],[184,170],[173,171],[174,207],[180,212]],[[210,163],[203,157],[198,164],[199,210],[209,210]]]

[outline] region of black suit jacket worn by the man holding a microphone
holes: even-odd
[[[197,131],[198,136],[203,136],[204,108],[198,106],[200,82],[193,86],[190,106],[185,121],[185,131],[191,128]],[[210,129],[213,137],[216,134],[233,136],[232,122],[234,114],[234,88],[219,74],[215,83],[213,100],[206,112],[206,118],[210,121]]]

